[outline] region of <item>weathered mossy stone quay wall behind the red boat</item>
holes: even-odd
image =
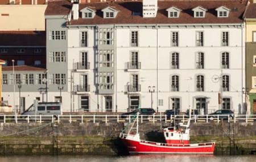
[[[127,123],[1,123],[0,155],[127,155],[118,135]],[[164,142],[169,123],[143,122],[141,138]],[[233,133],[234,132],[234,133]],[[191,143],[216,142],[214,154],[256,152],[256,123],[192,123]]]

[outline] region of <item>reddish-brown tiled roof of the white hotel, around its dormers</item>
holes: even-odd
[[[215,0],[215,1],[158,1],[158,14],[156,18],[143,18],[133,16],[133,12],[142,13],[142,2],[100,2],[84,3],[79,5],[79,10],[85,7],[95,7],[97,12],[93,19],[71,20],[71,25],[79,24],[157,24],[157,23],[242,23],[242,15],[245,11],[247,0]],[[117,17],[104,19],[102,9],[114,6],[119,10]],[[166,9],[176,6],[181,9],[179,18],[168,18]],[[192,9],[202,6],[207,9],[205,18],[193,18]],[[217,9],[226,6],[230,10],[228,18],[217,18]],[[56,10],[58,9],[58,10]],[[68,1],[50,2],[46,9],[46,15],[66,15],[72,9],[72,3]]]

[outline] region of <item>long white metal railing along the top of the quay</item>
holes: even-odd
[[[139,115],[139,122],[182,122],[188,121],[188,115]],[[133,122],[134,115],[0,115],[0,123],[31,123],[31,122]],[[191,115],[191,122],[254,122],[256,115]]]

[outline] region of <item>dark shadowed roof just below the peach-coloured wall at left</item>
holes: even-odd
[[[0,31],[0,46],[46,46],[45,31]]]

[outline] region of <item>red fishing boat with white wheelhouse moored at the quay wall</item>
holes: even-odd
[[[183,154],[213,154],[214,142],[210,143],[189,143],[189,123],[179,124],[175,127],[164,128],[163,134],[166,143],[150,142],[141,140],[138,132],[139,119],[133,122],[127,134],[121,132],[119,138],[127,147],[129,153],[183,153]],[[134,124],[137,122],[137,127]],[[134,132],[133,130],[136,129]]]

